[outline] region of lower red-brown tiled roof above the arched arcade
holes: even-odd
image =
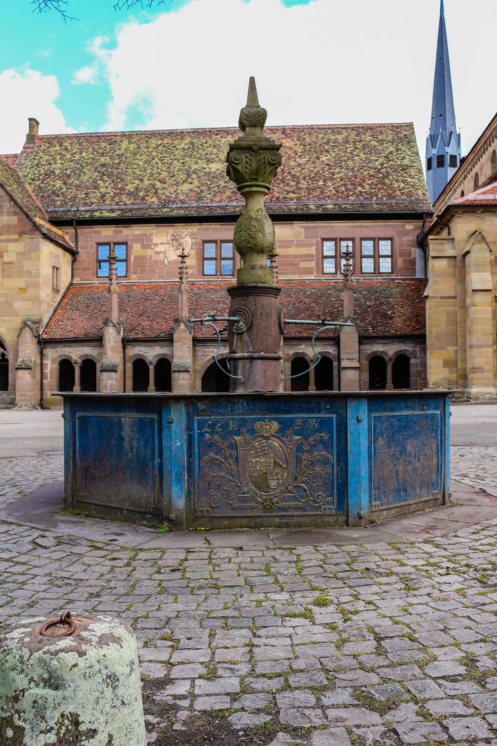
[[[229,282],[190,283],[191,318],[207,313],[226,315]],[[338,320],[343,308],[341,280],[282,280],[280,295],[287,319]],[[355,313],[363,335],[404,336],[425,333],[425,280],[358,280]],[[178,315],[175,282],[121,283],[119,316],[127,339],[170,337]],[[108,316],[107,283],[81,283],[69,287],[48,322],[43,339],[99,337]],[[316,327],[288,325],[285,336],[310,336]],[[212,329],[195,325],[196,337],[212,336]],[[333,336],[332,330],[320,336]]]

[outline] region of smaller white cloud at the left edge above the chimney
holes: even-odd
[[[37,70],[23,72],[4,70],[0,73],[0,101],[4,115],[0,120],[2,153],[19,153],[28,132],[28,117],[40,122],[39,134],[74,132],[66,127],[63,113],[54,104],[59,95],[59,84],[54,75],[43,75]],[[8,113],[8,116],[7,116]]]

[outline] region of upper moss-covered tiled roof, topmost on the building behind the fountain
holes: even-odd
[[[412,124],[268,127],[282,166],[270,213],[430,211]],[[239,212],[235,128],[42,135],[16,168],[51,219]]]

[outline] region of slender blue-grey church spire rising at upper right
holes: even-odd
[[[459,163],[460,134],[455,126],[449,46],[443,0],[440,0],[431,123],[426,138],[426,185],[432,204],[459,168]]]

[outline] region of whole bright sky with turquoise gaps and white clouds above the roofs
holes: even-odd
[[[69,0],[64,23],[0,0],[0,152],[28,116],[40,134],[232,127],[255,75],[268,125],[414,122],[424,161],[439,0],[114,3]],[[445,0],[445,16],[466,154],[497,110],[497,3]]]

